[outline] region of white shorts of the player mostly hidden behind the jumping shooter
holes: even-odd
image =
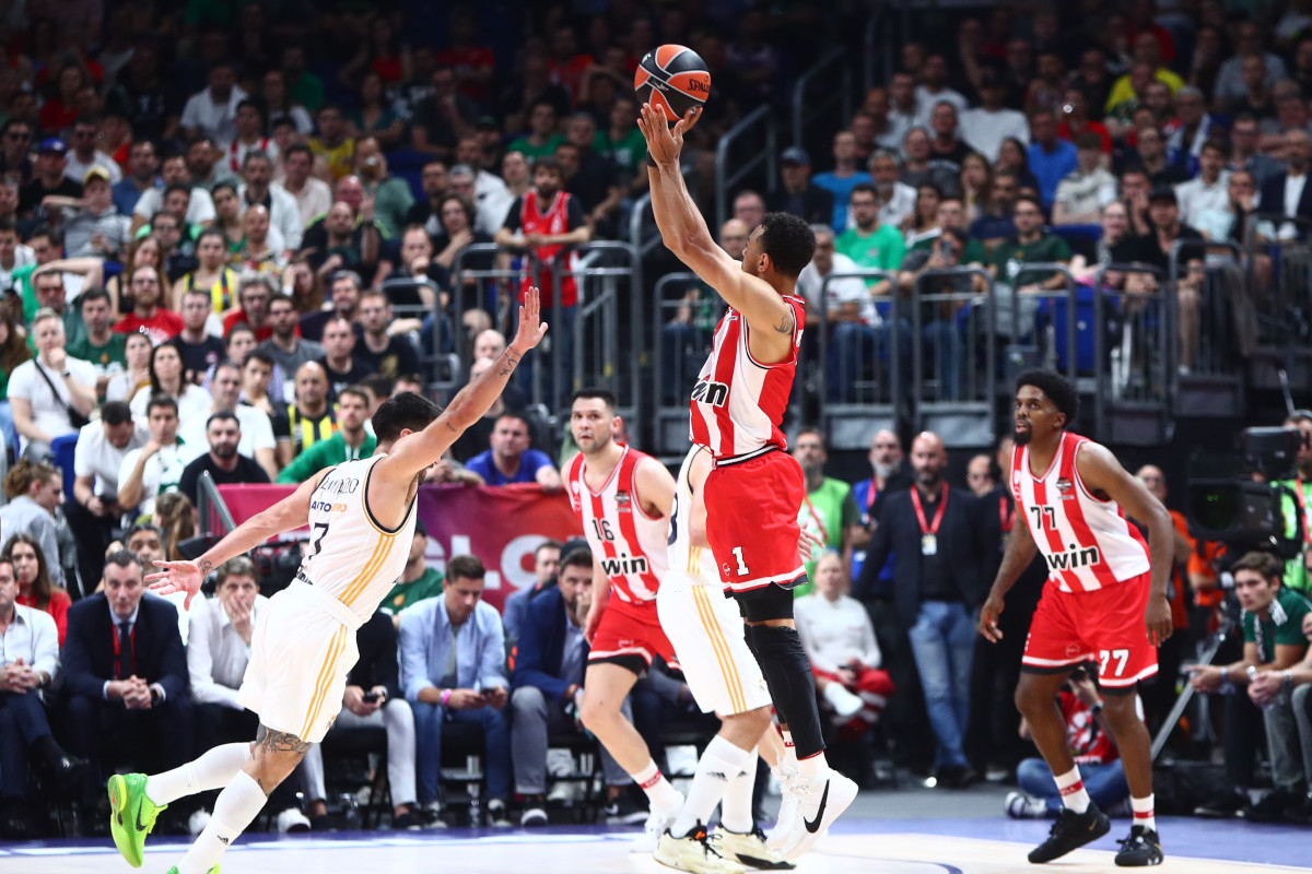
[[[743,639],[737,601],[724,598],[718,579],[698,583],[669,570],[660,580],[656,609],[703,713],[732,715],[770,705],[765,677]]]

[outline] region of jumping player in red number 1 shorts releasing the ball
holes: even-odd
[[[691,440],[715,457],[706,480],[706,540],[720,582],[739,601],[748,647],[761,666],[783,727],[783,802],[769,844],[796,858],[857,797],[857,785],[829,768],[820,734],[815,677],[792,621],[791,588],[806,582],[798,552],[802,468],[779,430],[798,367],[806,303],[798,274],[815,254],[806,221],[770,212],[752,231],[743,263],[715,244],[684,186],[684,134],[701,118],[689,110],[668,126],[664,109],[643,104],[652,212],[665,246],[729,305],[693,388]],[[795,761],[795,765],[792,764]]]

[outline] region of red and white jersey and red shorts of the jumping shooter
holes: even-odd
[[[806,580],[798,552],[806,477],[779,430],[798,370],[806,301],[783,300],[794,316],[792,350],[785,360],[762,364],[752,358],[747,318],[729,309],[693,387],[690,436],[715,456],[705,489],[706,540],[720,582],[735,592]]]

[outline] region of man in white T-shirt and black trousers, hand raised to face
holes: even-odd
[[[105,548],[123,518],[118,503],[118,473],[133,449],[146,446],[150,431],[133,421],[122,401],[112,401],[77,432],[73,451],[73,494],[64,501],[64,518],[77,539],[77,569],[83,583],[93,588],[105,567]]]

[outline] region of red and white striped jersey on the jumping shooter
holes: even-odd
[[[806,301],[785,296],[792,307],[792,352],[777,364],[761,364],[748,350],[749,328],[736,309],[724,313],[715,328],[715,345],[693,387],[689,436],[716,459],[758,452],[765,447],[789,448],[779,430],[792,394],[798,349],[806,325]]]

